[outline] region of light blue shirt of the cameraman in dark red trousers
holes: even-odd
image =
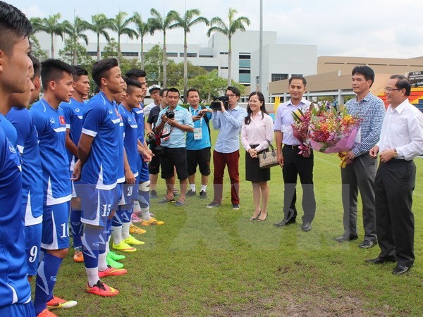
[[[245,108],[236,106],[232,110],[213,111],[214,130],[219,130],[214,150],[219,153],[233,153],[240,149],[240,130],[247,116]]]

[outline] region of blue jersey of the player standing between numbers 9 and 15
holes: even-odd
[[[37,128],[41,157],[44,203],[61,204],[72,198],[66,152],[66,123],[63,110],[54,109],[45,99],[30,109]]]

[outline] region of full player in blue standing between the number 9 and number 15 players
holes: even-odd
[[[41,70],[44,97],[30,109],[37,128],[44,192],[41,247],[45,255],[37,270],[34,299],[37,314],[54,299],[56,276],[68,254],[71,180],[65,146],[66,123],[59,104],[72,97],[73,73],[73,67],[63,61],[44,61]],[[76,302],[71,304],[75,306]]]

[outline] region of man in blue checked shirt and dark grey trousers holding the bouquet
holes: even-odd
[[[345,159],[348,164],[341,168],[343,227],[344,232],[336,237],[338,242],[357,240],[357,195],[360,190],[363,206],[364,241],[360,248],[368,249],[377,244],[376,209],[374,206],[374,178],[376,159],[369,151],[379,141],[385,116],[384,101],[370,92],[374,82],[374,71],[369,66],[356,66],[353,69],[354,99],[347,101],[348,113],[361,118],[360,128],[354,147]]]

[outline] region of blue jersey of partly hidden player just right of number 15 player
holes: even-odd
[[[138,176],[138,126],[135,115],[132,111],[128,111],[123,105],[118,106],[119,113],[125,128],[123,135],[123,145],[126,151],[126,158],[130,166],[130,170],[134,176]]]

